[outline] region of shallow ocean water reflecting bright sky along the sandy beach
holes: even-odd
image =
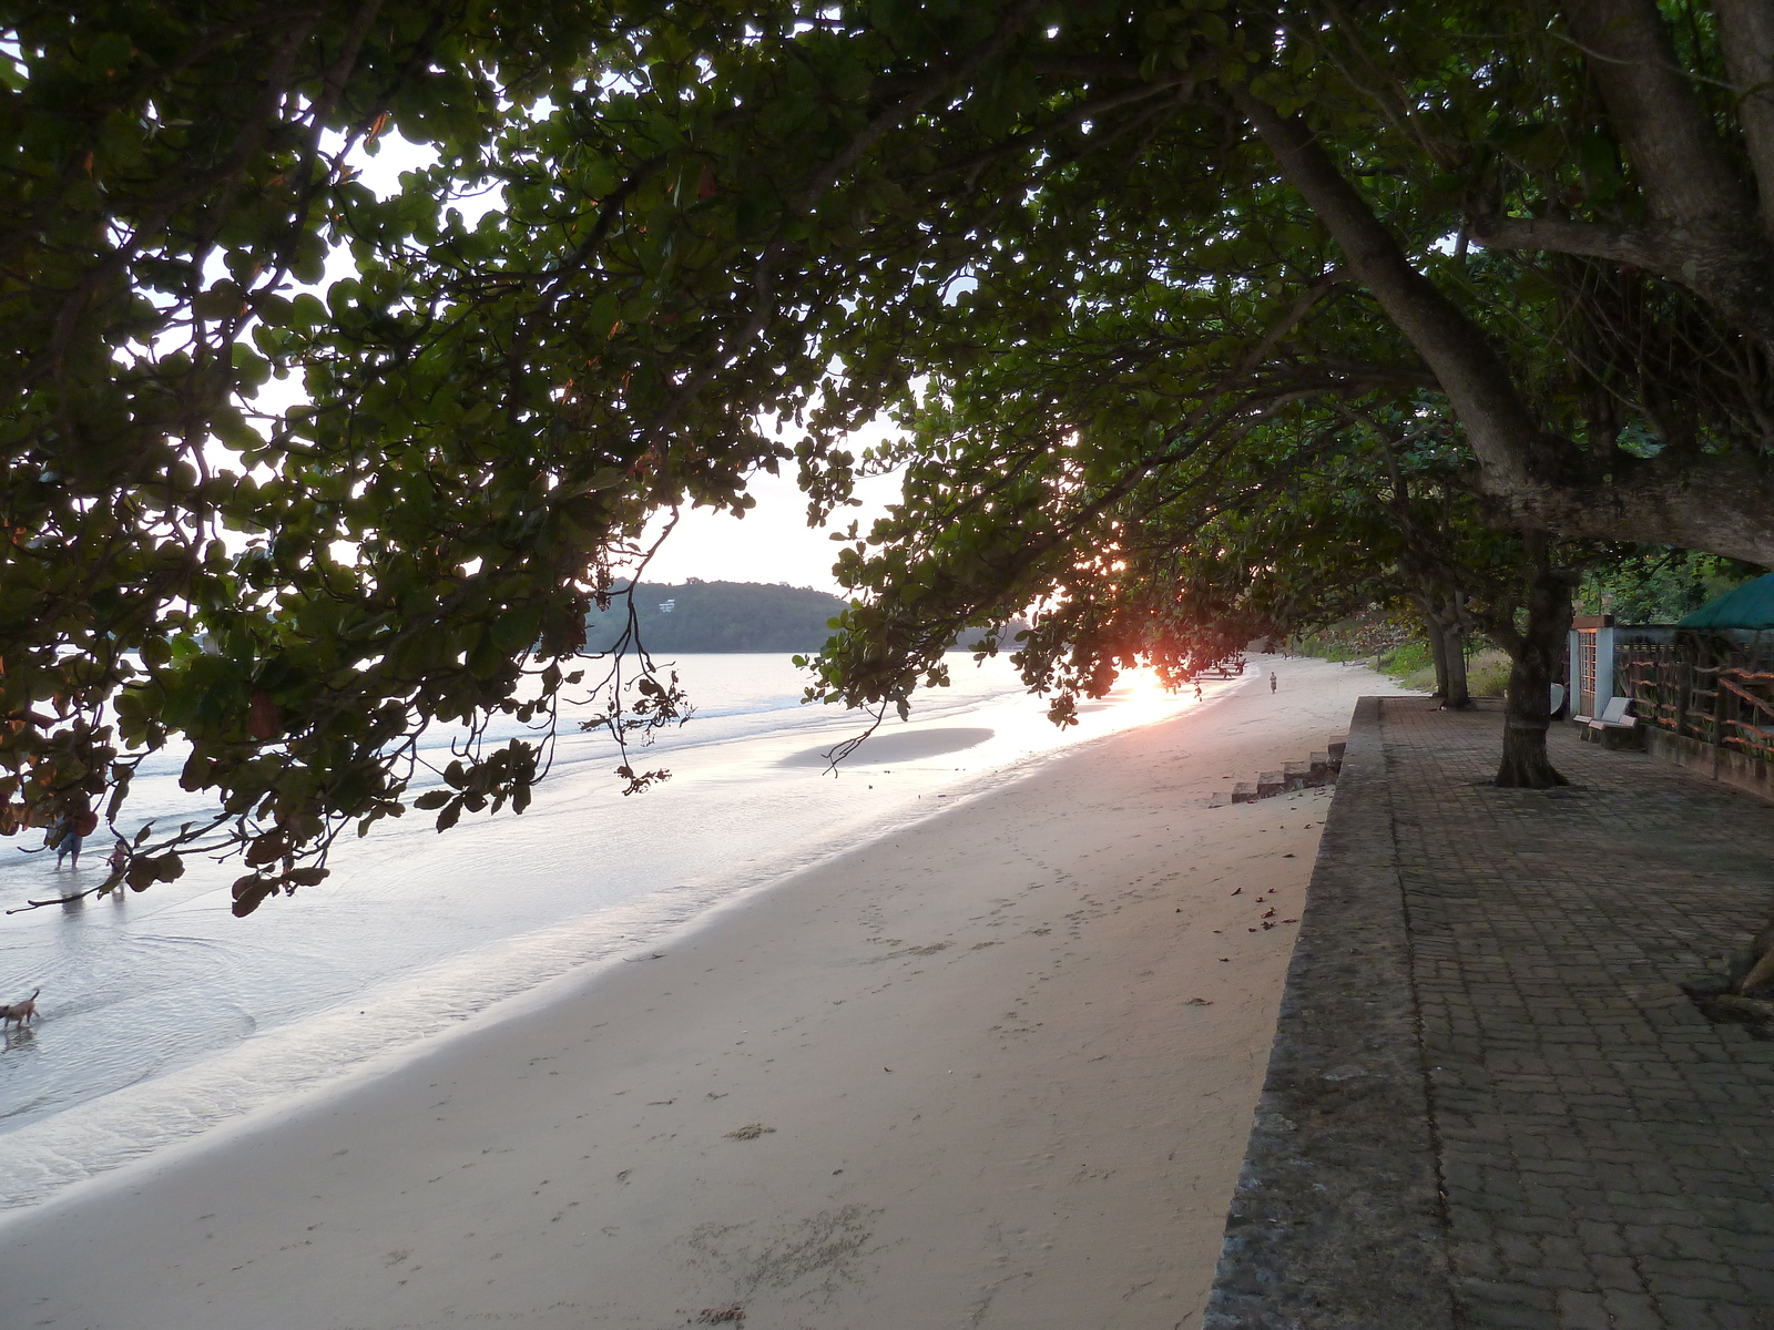
[[[802,706],[786,658],[683,656],[697,713],[639,754],[672,770],[646,794],[623,798],[607,738],[571,732],[522,818],[465,818],[444,835],[426,814],[381,823],[341,842],[325,883],[243,920],[229,911],[241,869],[208,860],[144,894],[0,919],[0,1000],[43,988],[37,1027],[0,1046],[0,1206],[410,1055],[1080,741],[1196,704],[1135,677],[1061,732],[1008,661],[951,661],[954,686],[921,695],[910,724],[889,720],[837,777],[823,752],[857,715]],[[438,766],[447,738],[429,739]],[[200,812],[181,764],[144,770],[126,832]],[[5,908],[105,874],[103,835],[64,872],[23,853],[35,842],[0,841]]]

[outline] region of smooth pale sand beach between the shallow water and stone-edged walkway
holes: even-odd
[[[1258,896],[1299,917],[1327,807],[1206,796],[1389,692],[1260,661],[1276,697],[1095,743],[7,1217],[0,1325],[1197,1325],[1297,931],[1247,929]]]

